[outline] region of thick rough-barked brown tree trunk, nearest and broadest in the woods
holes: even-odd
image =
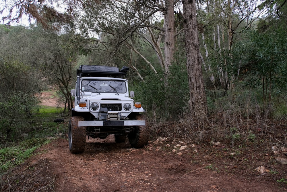
[[[195,117],[207,116],[202,68],[199,58],[199,38],[196,21],[195,0],[183,1],[185,49],[190,91],[190,113]]]

